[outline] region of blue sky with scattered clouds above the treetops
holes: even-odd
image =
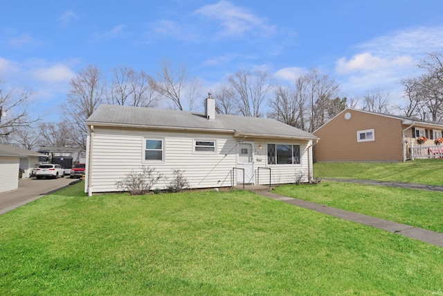
[[[0,0],[0,76],[33,89],[38,115],[57,111],[89,64],[154,74],[165,59],[204,94],[239,69],[284,85],[318,68],[342,96],[380,89],[401,104],[399,80],[443,51],[442,15],[441,0]]]

